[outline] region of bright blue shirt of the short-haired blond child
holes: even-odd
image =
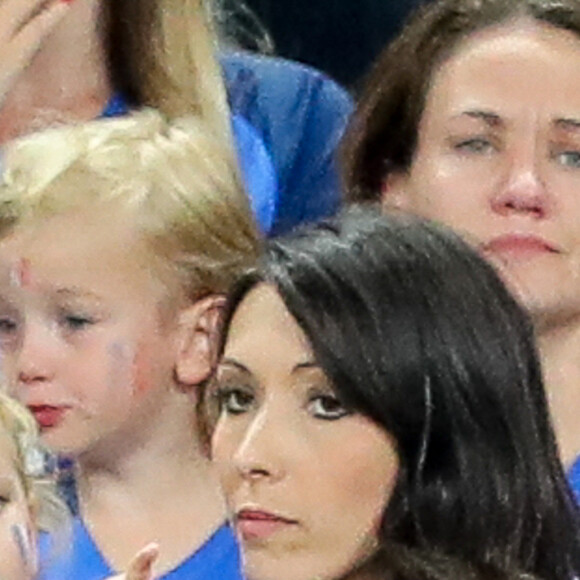
[[[70,551],[50,558],[50,538],[40,538],[41,572],[38,580],[102,580],[118,573],[112,570],[79,518],[73,522]],[[239,550],[227,525],[159,580],[242,580]]]

